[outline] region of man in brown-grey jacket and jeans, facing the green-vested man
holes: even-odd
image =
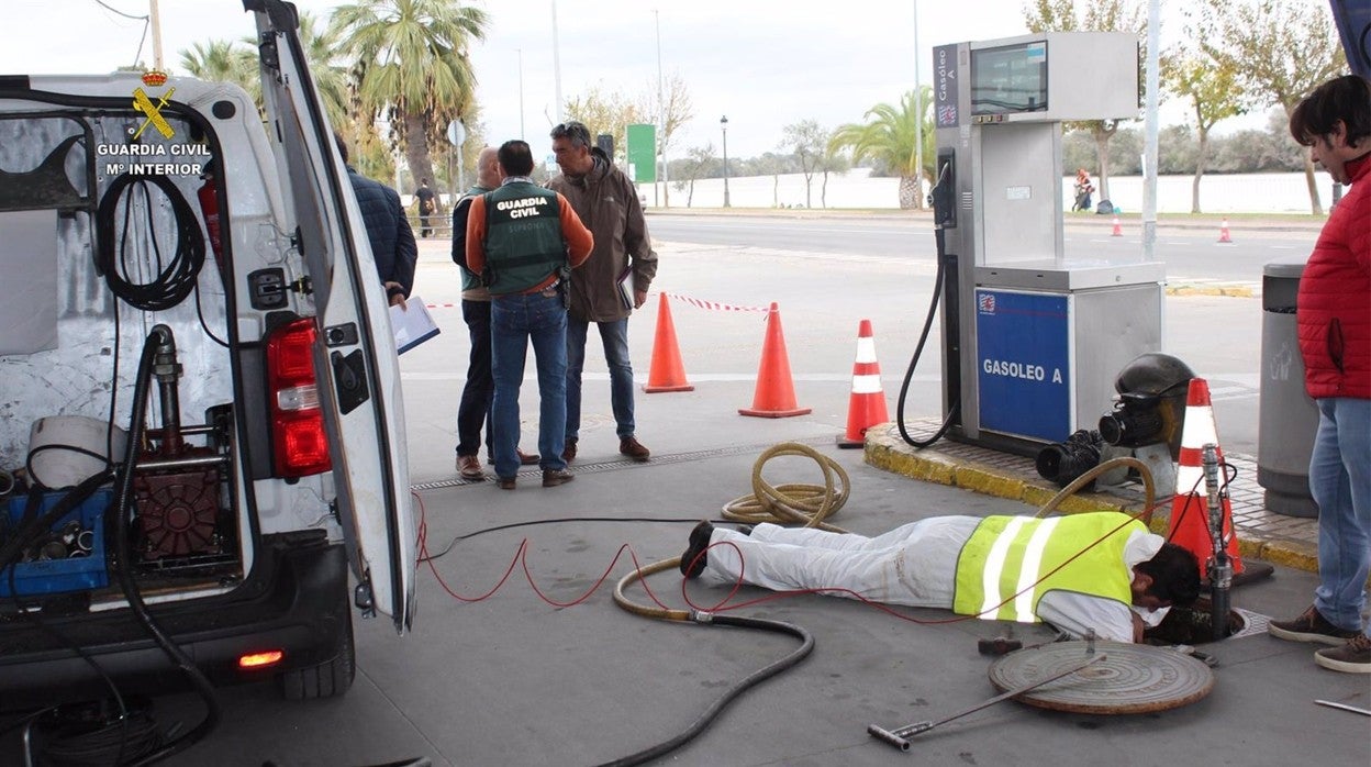
[[[609,365],[618,451],[635,461],[646,461],[651,453],[635,436],[628,316],[647,300],[647,288],[657,276],[657,252],[647,236],[638,188],[599,147],[591,145],[590,129],[580,122],[565,122],[554,128],[551,136],[553,154],[562,173],[547,185],[570,202],[572,210],[595,235],[595,250],[572,279],[566,321],[566,446],[562,457],[568,462],[576,457],[585,336],[590,324],[595,322]]]

